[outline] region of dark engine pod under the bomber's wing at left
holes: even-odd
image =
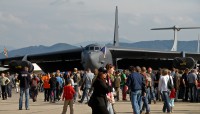
[[[24,69],[24,67],[28,67],[28,72],[32,72],[34,70],[34,66],[29,61],[16,61],[13,60],[9,63],[9,68],[13,72],[20,72]]]

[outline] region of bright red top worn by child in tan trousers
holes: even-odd
[[[73,99],[74,94],[75,94],[75,91],[71,85],[66,85],[64,87],[63,98],[65,98],[65,100]]]

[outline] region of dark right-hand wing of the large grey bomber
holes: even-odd
[[[129,68],[129,66],[145,66],[158,68],[186,68],[192,67],[195,63],[191,60],[200,60],[199,53],[185,53],[186,59],[183,58],[183,52],[176,51],[156,51],[156,50],[144,50],[144,49],[128,49],[128,48],[109,48],[113,58],[115,58],[115,65],[118,69]],[[191,57],[193,59],[191,59]],[[179,58],[178,63],[174,62],[175,58]],[[186,60],[186,64],[181,65]],[[189,60],[189,61],[188,61]],[[181,67],[180,67],[181,66]]]

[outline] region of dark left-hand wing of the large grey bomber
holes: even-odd
[[[53,69],[69,70],[64,68],[82,67],[81,66],[82,48],[56,51],[41,54],[27,55],[27,60],[37,63],[45,72],[53,72]],[[24,56],[0,59],[0,66],[8,65],[12,60],[22,60]],[[75,63],[74,63],[75,62]],[[76,66],[75,66],[76,65]]]

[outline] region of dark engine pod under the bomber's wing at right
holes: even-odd
[[[173,60],[173,67],[184,70],[186,68],[192,69],[195,66],[195,61],[192,57],[176,57]]]

